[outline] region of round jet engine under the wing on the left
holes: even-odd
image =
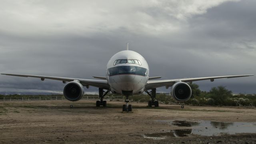
[[[84,87],[79,81],[72,81],[66,84],[63,94],[67,100],[78,101],[84,96]]]

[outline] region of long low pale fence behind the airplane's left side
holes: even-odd
[[[98,100],[99,96],[83,96],[81,100]],[[125,99],[124,96],[104,96],[104,100]],[[29,101],[29,100],[66,100],[64,96],[15,96],[0,97],[0,101]]]

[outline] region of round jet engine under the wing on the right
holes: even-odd
[[[172,98],[177,102],[185,102],[190,99],[192,90],[185,82],[176,82],[170,92]]]

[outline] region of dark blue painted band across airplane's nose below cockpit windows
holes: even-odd
[[[146,76],[147,69],[139,66],[115,66],[108,69],[109,76],[115,76],[119,74],[135,74],[140,76]]]

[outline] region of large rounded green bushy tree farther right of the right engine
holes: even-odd
[[[209,94],[216,105],[226,105],[228,97],[232,96],[232,91],[226,89],[224,86],[218,86],[217,88],[213,87]]]

